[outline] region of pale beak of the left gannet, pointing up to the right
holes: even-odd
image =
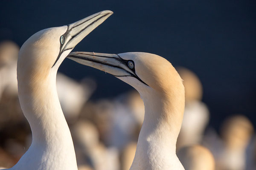
[[[112,14],[113,12],[109,10],[101,11],[75,23],[69,24],[67,26],[67,31],[61,36],[61,38],[63,38],[63,44],[60,46],[60,53],[55,63],[58,61],[59,57],[64,51],[72,50],[75,48],[75,46],[84,37],[86,37],[91,31],[103,23]]]

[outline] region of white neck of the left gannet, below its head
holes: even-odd
[[[57,70],[45,79],[18,75],[20,105],[32,130],[32,144],[10,170],[77,170],[69,127],[56,90]]]

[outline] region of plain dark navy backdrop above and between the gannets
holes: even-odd
[[[218,128],[225,117],[236,113],[256,125],[255,0],[1,0],[0,40],[11,39],[21,46],[37,31],[107,9],[114,14],[73,51],[158,54],[201,79],[210,125]],[[93,99],[131,89],[69,59],[59,71],[78,80],[95,78]]]

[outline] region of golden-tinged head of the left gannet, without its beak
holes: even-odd
[[[26,40],[19,52],[18,79],[36,81],[48,77],[55,60],[60,54],[60,37],[66,31],[67,26],[47,28]],[[60,57],[60,60],[63,60],[64,57],[66,57],[65,53]]]

